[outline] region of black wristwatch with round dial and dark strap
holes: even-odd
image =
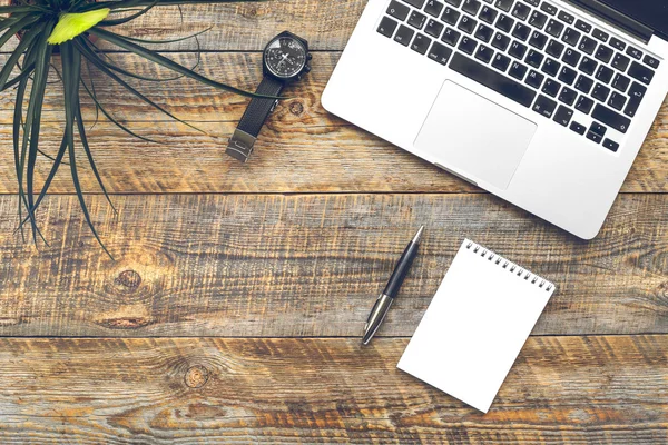
[[[264,50],[262,58],[264,78],[255,91],[262,96],[277,97],[283,89],[311,71],[308,42],[292,32],[276,36]],[[229,144],[227,155],[246,162],[264,122],[278,105],[278,99],[253,98],[242,117]]]

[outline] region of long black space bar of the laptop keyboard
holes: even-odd
[[[454,53],[449,67],[451,70],[456,71],[524,107],[530,107],[536,97],[536,91],[530,88],[527,88],[523,85],[509,79],[504,75],[494,71],[492,68],[488,68],[459,52]]]

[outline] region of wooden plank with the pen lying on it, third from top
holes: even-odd
[[[534,334],[668,333],[668,195],[623,195],[586,243],[488,195],[128,196],[92,219],[45,204],[51,247],[23,245],[0,199],[0,335],[358,336],[426,226],[380,335],[410,336],[464,237],[556,281]]]

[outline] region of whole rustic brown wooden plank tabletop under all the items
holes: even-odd
[[[50,246],[13,234],[12,97],[1,96],[1,443],[668,442],[668,108],[598,238],[576,239],[323,110],[364,6],[188,7],[185,24],[164,8],[128,29],[165,39],[213,24],[202,71],[246,89],[279,31],[315,55],[247,165],[224,156],[243,98],[187,80],[140,85],[203,135],[98,82],[118,119],[164,141],[104,120],[91,131],[118,215],[89,170],[82,180],[116,261],[86,227],[66,169],[39,218]],[[188,65],[195,48],[163,49]],[[60,100],[50,87],[48,152]],[[91,120],[90,102],[85,111]],[[38,180],[49,161],[40,167]],[[363,348],[370,306],[421,224],[402,296]],[[559,288],[488,415],[395,368],[464,236]]]

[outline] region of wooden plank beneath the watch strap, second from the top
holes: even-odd
[[[126,69],[143,76],[165,76],[149,63],[129,55],[112,56]],[[171,55],[195,65],[188,53]],[[480,191],[440,169],[328,115],[320,97],[336,63],[337,55],[317,53],[314,70],[289,91],[292,98],[278,106],[264,129],[248,165],[224,155],[247,101],[187,80],[140,85],[161,106],[195,122],[208,135],[168,121],[121,88],[98,81],[100,100],[137,132],[161,144],[137,140],[102,120],[89,131],[98,167],[112,192],[340,192],[340,191]],[[240,68],[239,68],[240,67]],[[207,53],[203,71],[212,78],[253,89],[261,79],[261,56]],[[11,147],[12,95],[0,95],[0,194],[17,192]],[[62,95],[49,88],[45,109],[42,148],[53,154],[61,138]],[[95,111],[85,101],[85,116]],[[104,117],[102,117],[104,119]],[[668,191],[668,102],[657,118],[622,188],[626,192]],[[85,156],[81,162],[86,162]],[[38,162],[38,179],[50,168]],[[71,194],[67,169],[57,177],[52,191]],[[82,175],[86,190],[98,190],[92,175]]]

